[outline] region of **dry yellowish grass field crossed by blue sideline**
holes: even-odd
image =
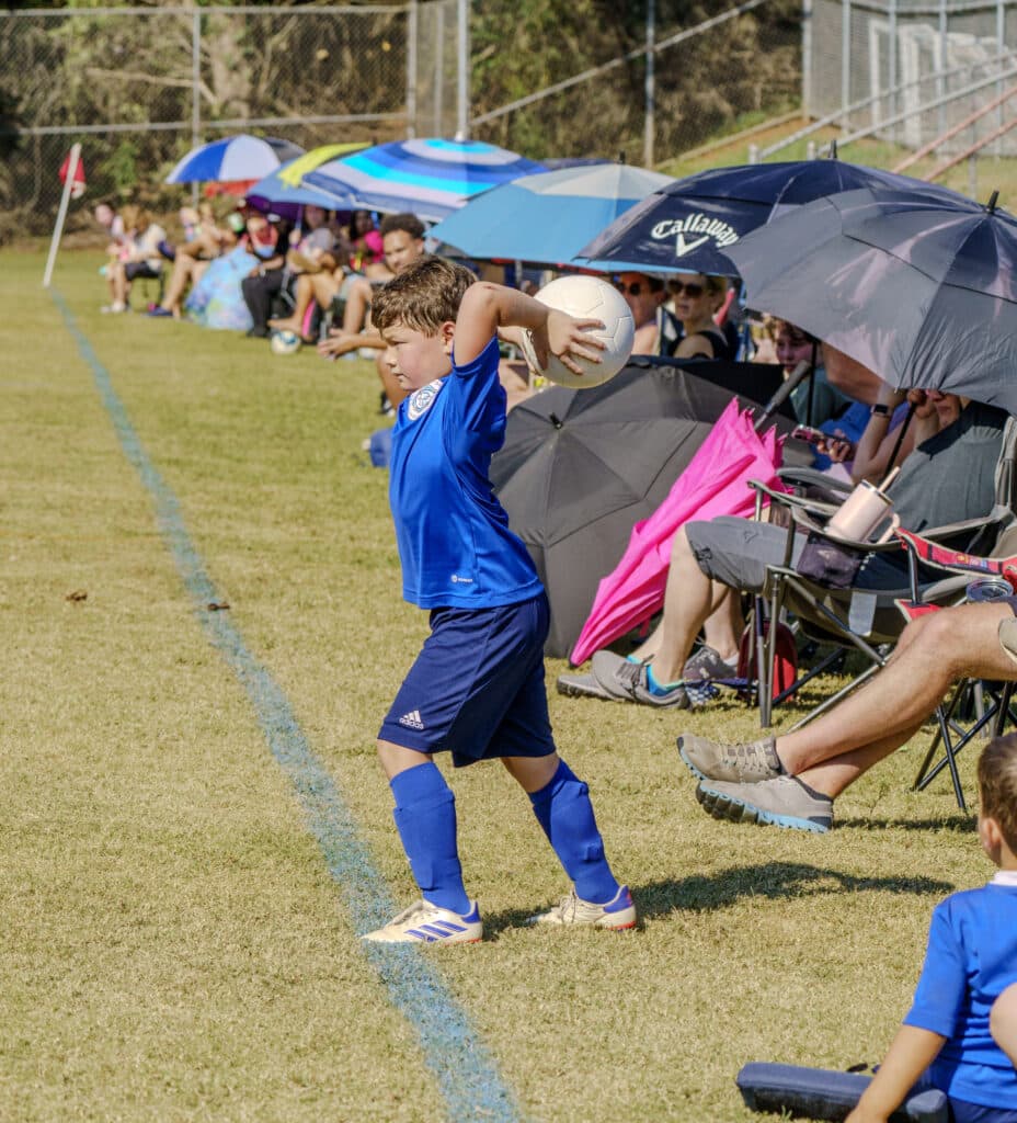
[[[741,703],[552,693],[640,930],[525,926],[567,885],[482,765],[487,939],[365,953],[415,895],[374,738],[425,629],[376,377],[100,316],[100,262],[0,255],[0,1119],[735,1123],[746,1061],[878,1060],[990,876],[949,780],[909,791],[926,734],[814,837],[696,804],[676,734],[757,736]]]

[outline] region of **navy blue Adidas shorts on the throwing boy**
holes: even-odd
[[[424,640],[378,737],[460,768],[491,757],[555,752],[543,675],[548,599],[497,609],[433,609]]]

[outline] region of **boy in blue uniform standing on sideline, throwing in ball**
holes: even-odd
[[[629,889],[604,856],[586,785],[556,751],[548,719],[543,645],[548,601],[522,541],[488,481],[505,436],[500,331],[526,328],[579,373],[596,360],[575,320],[468,270],[427,257],[381,289],[372,316],[384,362],[410,396],[393,430],[390,500],[403,595],[430,610],[431,632],[378,734],[395,824],[422,900],[365,939],[464,943],[482,939],[462,884],[456,802],[434,765],[500,757],[528,793],[572,892],[534,917],[550,924],[635,924]]]

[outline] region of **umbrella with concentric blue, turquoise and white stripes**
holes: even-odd
[[[331,161],[303,182],[330,193],[336,206],[412,211],[436,220],[500,183],[542,171],[541,164],[479,140],[419,139]]]

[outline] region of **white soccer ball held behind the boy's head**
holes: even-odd
[[[601,320],[603,328],[592,328],[589,336],[604,344],[598,351],[599,363],[578,359],[583,374],[574,374],[555,355],[549,356],[546,369],[537,364],[533,340],[529,331],[523,332],[523,355],[530,368],[542,374],[559,386],[588,390],[613,378],[629,362],[635,340],[635,321],[625,303],[625,298],[606,281],[590,276],[557,277],[537,293],[537,300],[548,308],[557,308],[578,319]]]

